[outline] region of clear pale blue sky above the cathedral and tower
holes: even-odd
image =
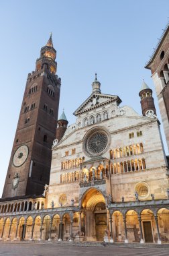
[[[64,108],[69,123],[74,123],[72,113],[91,94],[95,72],[103,93],[118,95],[122,105],[133,106],[141,114],[142,79],[154,90],[144,65],[168,22],[168,13],[166,0],[1,1],[0,194],[27,73],[34,70],[50,32],[62,78],[59,115]],[[160,119],[155,91],[154,99]]]

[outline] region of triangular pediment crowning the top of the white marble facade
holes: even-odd
[[[112,102],[117,102],[117,105],[121,103],[121,99],[116,95],[110,94],[91,94],[87,100],[85,100],[77,109],[74,111],[73,115],[76,117],[82,113],[87,113],[95,108],[105,106]]]

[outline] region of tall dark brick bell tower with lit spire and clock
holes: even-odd
[[[52,34],[29,73],[2,198],[42,195],[49,183],[61,79]]]

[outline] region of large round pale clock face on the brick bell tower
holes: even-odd
[[[26,145],[22,145],[15,151],[13,155],[13,165],[15,167],[19,167],[24,164],[25,160],[27,160],[27,156],[29,154],[29,149]]]

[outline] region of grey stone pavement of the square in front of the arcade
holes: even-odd
[[[81,247],[53,243],[0,243],[0,256],[169,256],[169,249]]]

